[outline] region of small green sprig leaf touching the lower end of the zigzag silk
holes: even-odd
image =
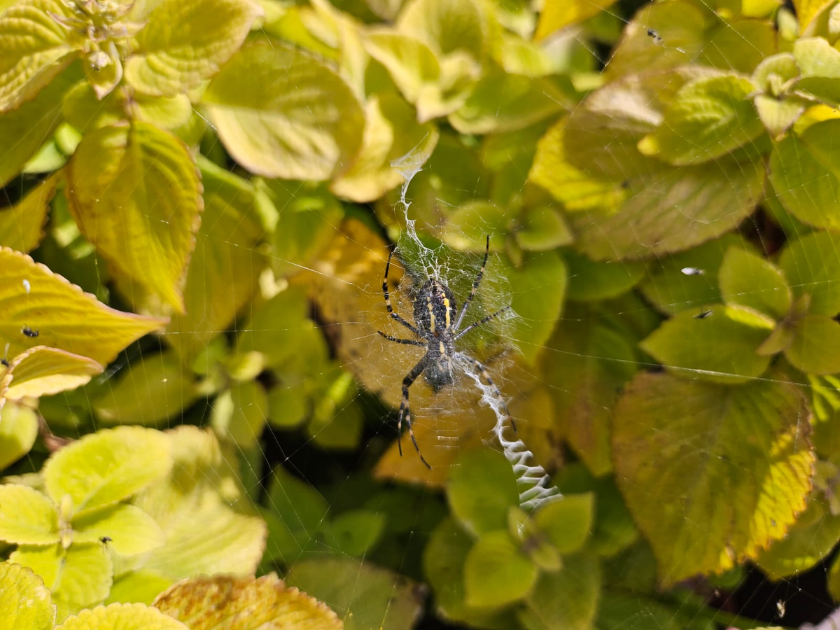
[[[560,554],[572,554],[589,538],[594,508],[595,495],[591,492],[565,495],[540,507],[533,519]]]

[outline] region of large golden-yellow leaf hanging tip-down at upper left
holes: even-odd
[[[85,135],[67,169],[82,233],[118,273],[182,312],[181,282],[202,212],[186,146],[150,123],[108,127]]]

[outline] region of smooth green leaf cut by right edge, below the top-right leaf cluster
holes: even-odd
[[[812,124],[774,144],[770,155],[776,196],[795,218],[818,228],[840,227],[840,150],[831,142],[837,130],[840,120]]]

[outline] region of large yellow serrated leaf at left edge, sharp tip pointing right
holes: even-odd
[[[28,255],[0,248],[0,335],[8,341],[8,356],[49,345],[106,365],[163,323],[106,307]]]

